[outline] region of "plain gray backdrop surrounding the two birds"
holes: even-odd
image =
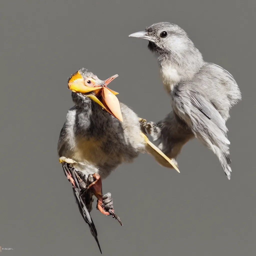
[[[139,116],[158,121],[170,99],[147,41],[127,37],[178,24],[206,61],[233,74],[242,102],[230,111],[231,180],[197,140],[181,173],[148,155],[103,182],[124,226],[95,209],[104,255],[255,255],[255,1],[1,1],[0,246],[4,255],[100,255],[58,163],[72,106],[67,78],[81,67],[106,79]],[[253,152],[254,151],[254,152]]]

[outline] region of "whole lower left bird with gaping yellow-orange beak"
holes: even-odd
[[[104,215],[115,215],[111,194],[102,195],[101,178],[106,178],[121,163],[130,163],[140,152],[153,155],[162,166],[175,168],[147,136],[145,120],[125,104],[107,85],[118,75],[100,80],[87,69],[79,69],[68,80],[74,106],[68,111],[58,141],[59,161],[69,181],[79,210],[98,243],[97,231],[90,216],[93,196]],[[101,251],[101,249],[100,249]]]

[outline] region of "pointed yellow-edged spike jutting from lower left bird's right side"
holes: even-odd
[[[150,155],[153,155],[158,164],[168,167],[168,168],[174,168],[175,170],[177,170],[177,172],[179,172],[176,161],[174,161],[174,159],[170,159],[168,156],[166,156],[157,146],[155,146],[148,139],[148,137],[146,135],[146,130],[143,125],[141,125],[141,133],[140,134],[146,144],[147,153]]]

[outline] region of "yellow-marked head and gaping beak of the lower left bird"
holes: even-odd
[[[115,96],[118,92],[107,87],[116,77],[118,77],[117,74],[106,80],[100,80],[94,73],[81,68],[68,79],[68,89],[75,94],[75,103],[90,98],[123,122],[120,104]]]

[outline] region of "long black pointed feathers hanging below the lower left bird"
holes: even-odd
[[[69,171],[72,174],[72,173],[74,173],[74,171],[76,171],[71,165],[69,165],[67,163],[63,163],[62,167],[63,167],[63,170],[65,173]],[[73,194],[76,198],[76,202],[77,202],[79,211],[80,211],[81,215],[83,216],[84,221],[89,225],[91,234],[94,237],[94,239],[96,240],[98,247],[100,249],[100,252],[101,252],[99,240],[97,237],[98,236],[97,230],[94,226],[93,220],[92,220],[90,212],[89,212],[89,211],[91,211],[91,208],[92,208],[93,195],[89,190],[86,190],[86,189],[80,187],[79,181],[77,180],[76,175],[72,175],[72,177],[76,184],[76,187],[75,188],[73,187],[72,189],[73,189]],[[101,254],[102,254],[102,252],[101,252]]]

